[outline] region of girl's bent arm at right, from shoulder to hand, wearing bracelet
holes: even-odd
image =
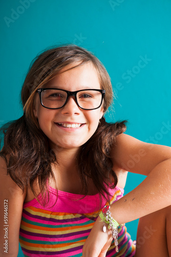
[[[114,170],[127,169],[147,176],[137,188],[111,205],[112,217],[119,224],[171,205],[171,148],[144,143],[121,134],[117,137],[111,155]],[[130,161],[133,158],[134,163]],[[102,251],[106,252],[110,242],[110,233],[102,232],[98,217],[84,244],[83,257],[105,256]]]

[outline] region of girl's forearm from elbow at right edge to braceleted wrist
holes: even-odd
[[[131,222],[171,205],[171,159],[159,163],[130,193],[111,205],[119,224]]]

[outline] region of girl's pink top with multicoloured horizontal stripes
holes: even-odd
[[[82,247],[98,216],[99,194],[89,195],[81,199],[82,195],[71,194],[58,190],[56,204],[56,190],[49,187],[50,201],[46,207],[41,206],[36,199],[24,204],[22,222],[19,232],[19,243],[24,256],[29,257],[69,257],[82,256]],[[123,195],[123,189],[111,190],[110,203]],[[101,207],[106,204],[102,197]],[[100,208],[101,209],[101,208]],[[126,227],[118,229],[118,247],[116,253],[114,243],[106,256],[134,256],[135,245]]]

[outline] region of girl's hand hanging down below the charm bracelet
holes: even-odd
[[[108,224],[106,224],[108,227]],[[103,223],[98,217],[82,248],[82,257],[105,257],[112,243],[112,231],[103,232]]]

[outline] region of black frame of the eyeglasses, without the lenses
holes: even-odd
[[[61,91],[64,91],[64,92],[67,93],[66,101],[65,101],[65,103],[64,103],[61,107],[59,107],[59,108],[49,108],[49,107],[46,107],[45,105],[43,105],[42,100],[41,100],[41,93],[42,93],[42,91],[48,90],[48,89],[57,89],[57,90],[61,90]],[[93,109],[82,108],[82,107],[79,106],[79,104],[78,104],[78,102],[77,102],[77,96],[76,96],[77,93],[80,92],[80,91],[89,91],[89,90],[99,91],[99,92],[101,93],[101,103],[100,103],[100,105],[99,105],[98,107],[93,108]],[[94,88],[93,88],[93,89],[81,89],[81,90],[77,90],[77,91],[68,91],[68,90],[65,90],[65,89],[52,88],[52,87],[51,87],[51,88],[38,88],[38,89],[37,89],[37,93],[39,94],[39,98],[40,98],[40,103],[41,103],[41,105],[42,105],[43,107],[47,108],[47,109],[60,109],[60,108],[62,108],[63,106],[66,105],[68,98],[69,98],[70,96],[73,96],[73,97],[75,98],[76,104],[77,104],[81,109],[83,109],[83,110],[89,110],[89,111],[90,111],[90,110],[95,110],[95,109],[100,108],[100,106],[101,106],[101,104],[102,104],[102,101],[103,101],[103,99],[104,99],[105,90],[104,90],[104,89],[94,89]]]

